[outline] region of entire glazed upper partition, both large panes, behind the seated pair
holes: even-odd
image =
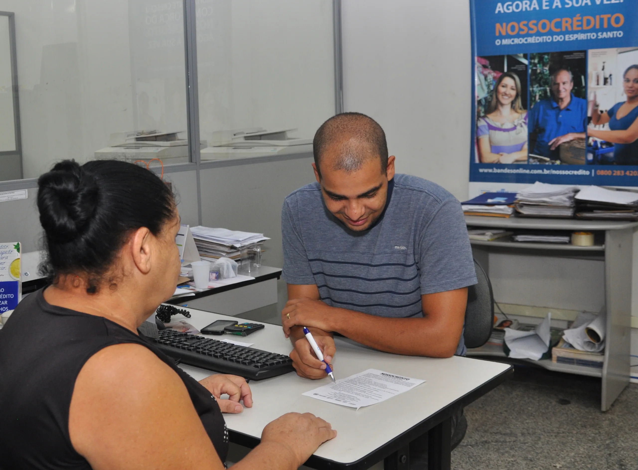
[[[335,113],[334,3],[0,0],[15,14],[22,178],[69,158],[177,170],[309,150]],[[198,113],[188,112],[193,97]],[[0,136],[15,130],[5,121]],[[15,179],[0,171],[0,182]]]

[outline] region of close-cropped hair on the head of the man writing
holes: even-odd
[[[327,148],[330,160],[324,159]],[[328,164],[330,169],[352,173],[359,170],[368,159],[379,159],[381,171],[388,166],[388,145],[385,132],[371,117],[361,113],[341,113],[324,122],[313,139],[315,166],[321,176],[320,165]],[[325,161],[324,161],[325,160]]]

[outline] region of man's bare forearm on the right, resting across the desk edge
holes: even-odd
[[[333,331],[362,345],[395,354],[450,357],[456,352],[458,331],[445,330],[429,318],[387,318],[335,308]],[[303,332],[302,332],[303,333]]]

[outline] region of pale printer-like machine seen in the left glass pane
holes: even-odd
[[[160,159],[164,163],[188,162],[188,140],[178,134],[185,131],[130,131],[111,134],[108,147],[95,152],[96,159],[135,160]],[[200,148],[207,145],[200,141]]]

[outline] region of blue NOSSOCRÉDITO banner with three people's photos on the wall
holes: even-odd
[[[470,8],[470,185],[638,186],[638,1]]]

